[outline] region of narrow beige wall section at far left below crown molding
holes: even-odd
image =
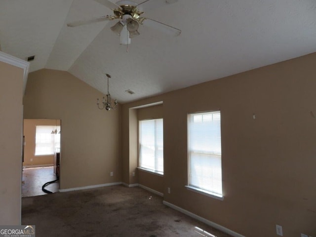
[[[0,225],[21,223],[23,74],[0,62]]]

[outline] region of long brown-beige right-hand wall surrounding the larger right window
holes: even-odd
[[[276,224],[286,237],[316,236],[315,62],[314,53],[124,104],[123,141],[127,111],[163,101],[165,201],[247,237],[276,236]],[[217,109],[223,201],[185,188],[187,114]],[[123,166],[133,169],[129,149]]]

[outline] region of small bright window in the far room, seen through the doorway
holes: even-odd
[[[60,131],[59,126],[36,126],[35,156],[53,155],[60,148],[60,134],[52,133],[55,129]]]

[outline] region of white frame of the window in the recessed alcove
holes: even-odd
[[[155,152],[155,156],[154,156],[154,169],[150,169],[147,167],[142,166],[142,157],[141,157],[141,123],[143,121],[149,121],[149,120],[153,120],[153,121],[157,121],[157,120],[161,120],[162,121],[162,171],[158,170],[158,158],[156,157],[156,152]],[[156,125],[156,124],[155,124]],[[155,128],[156,129],[156,128]],[[156,133],[155,133],[156,134]],[[156,147],[157,147],[157,137],[155,136],[154,138],[155,140],[155,151],[156,151]],[[163,118],[150,118],[150,119],[142,119],[138,121],[138,169],[149,172],[149,173],[153,173],[153,174],[157,174],[159,176],[163,176],[163,171],[164,171],[164,167],[163,167]]]

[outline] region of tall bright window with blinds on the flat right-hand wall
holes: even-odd
[[[190,114],[188,119],[187,187],[222,199],[221,113]]]

